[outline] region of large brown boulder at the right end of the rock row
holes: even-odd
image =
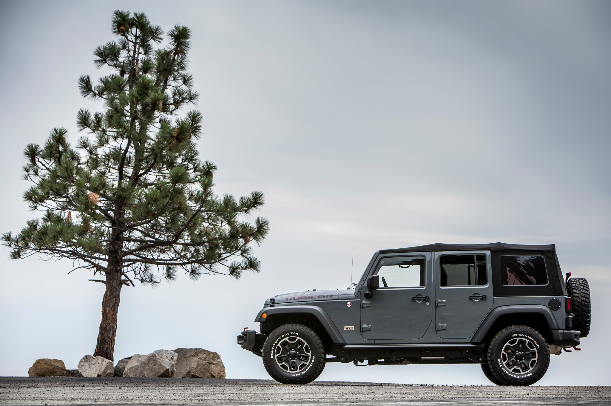
[[[225,366],[216,352],[202,348],[178,348],[175,378],[225,378]]]

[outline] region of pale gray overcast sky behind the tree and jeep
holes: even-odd
[[[78,137],[79,75],[113,39],[115,9],[192,30],[203,159],[218,193],[265,193],[258,275],[186,276],[122,290],[115,361],[157,349],[219,352],[227,377],[269,378],[235,344],[278,293],[345,288],[378,249],[555,243],[593,290],[581,352],[541,385],[609,385],[611,2],[104,1],[0,8],[0,232],[38,216],[23,149]],[[69,260],[0,253],[0,375],[95,349],[104,286]],[[44,258],[42,258],[44,259]],[[569,372],[569,373],[567,373]],[[489,384],[477,365],[357,368],[320,380]]]

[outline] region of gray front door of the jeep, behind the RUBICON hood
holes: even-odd
[[[431,253],[378,257],[370,275],[379,275],[380,288],[361,301],[360,330],[369,340],[422,337],[433,319]],[[364,286],[360,297],[367,290]]]

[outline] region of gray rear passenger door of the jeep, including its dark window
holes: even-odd
[[[490,253],[435,253],[435,329],[469,338],[492,308]]]

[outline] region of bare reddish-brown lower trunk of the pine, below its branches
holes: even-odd
[[[121,295],[121,273],[119,271],[106,271],[106,292],[102,300],[102,321],[98,344],[93,356],[102,356],[114,361],[114,340],[117,334],[117,314],[119,313],[119,298]]]

